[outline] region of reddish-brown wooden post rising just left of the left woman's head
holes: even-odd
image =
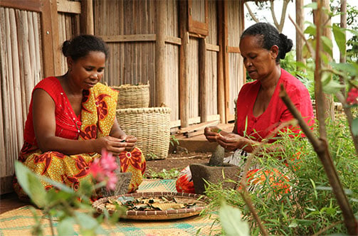
[[[41,35],[43,74],[45,77],[60,75],[60,43],[56,0],[41,0]]]

